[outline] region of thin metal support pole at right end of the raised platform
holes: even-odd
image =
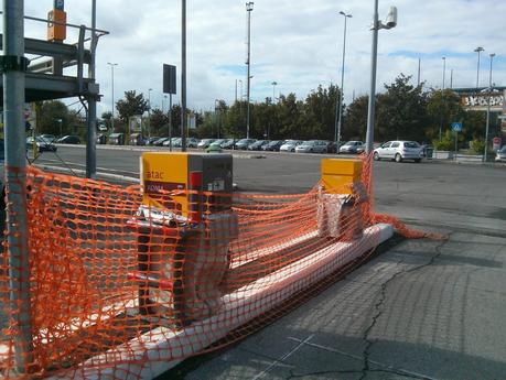
[[[97,0],[91,1],[91,58],[88,65],[88,77],[95,82],[95,52],[97,50]],[[86,133],[86,177],[95,178],[97,175],[97,98],[95,95],[88,100],[88,128]]]

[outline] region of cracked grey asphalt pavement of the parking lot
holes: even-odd
[[[120,153],[119,153],[120,152]],[[61,148],[67,164],[84,150]],[[140,152],[98,150],[136,176]],[[41,162],[55,160],[44,153]],[[317,155],[235,160],[246,192],[302,193]],[[379,213],[448,240],[403,240],[241,343],[186,360],[162,379],[506,378],[506,167],[375,163]]]

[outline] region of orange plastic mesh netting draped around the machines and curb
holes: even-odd
[[[313,284],[378,245],[369,164],[365,189],[354,196],[343,195],[349,186],[337,194],[321,186],[300,195],[183,192],[202,207],[202,220],[143,207],[140,186],[29,169],[33,341],[25,371],[149,377],[148,363],[244,338],[262,315],[280,315],[290,300],[308,296]],[[19,311],[9,307],[15,268],[7,248],[0,377],[21,378],[12,371]]]

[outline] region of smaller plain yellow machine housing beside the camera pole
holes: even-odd
[[[322,183],[329,194],[352,194],[352,184],[362,181],[362,160],[322,160]]]

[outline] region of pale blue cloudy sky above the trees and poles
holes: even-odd
[[[45,18],[52,0],[25,0],[25,13]],[[480,83],[488,82],[489,56],[495,53],[493,82],[506,85],[505,0],[392,0],[380,1],[379,17],[398,8],[398,26],[379,32],[378,90],[400,73],[441,87],[446,57],[446,87],[453,69],[454,87],[476,84],[477,54],[483,46]],[[374,0],[256,0],[251,14],[252,101],[277,91],[305,97],[317,85],[340,82],[344,18],[348,19],[345,98],[367,94],[370,70]],[[90,24],[91,0],[65,0],[69,23]],[[110,32],[97,51],[97,80],[104,95],[99,113],[110,109],[111,73],[117,63],[116,98],[125,90],[148,94],[162,107],[162,64],[181,63],[181,1],[97,0],[97,28]],[[25,23],[26,34],[44,37],[45,26]],[[68,32],[67,42],[76,33]],[[233,101],[236,79],[246,83],[245,1],[187,0],[189,106],[211,109],[215,99]],[[240,85],[239,85],[240,87]],[[246,85],[244,85],[246,91]],[[177,93],[180,89],[177,88]],[[277,95],[278,96],[278,95]],[[179,95],[174,98],[179,102]]]

